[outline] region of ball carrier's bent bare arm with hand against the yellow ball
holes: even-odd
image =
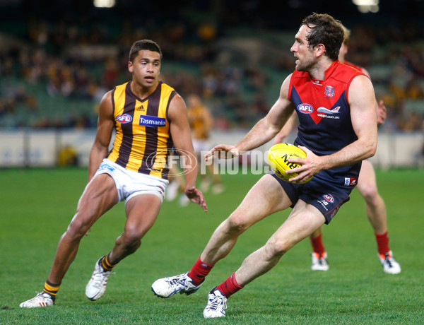
[[[349,88],[348,102],[351,107],[353,130],[358,140],[331,155],[317,156],[311,150],[300,146],[307,153],[305,160],[290,159],[302,166],[290,170],[301,172],[292,182],[304,182],[321,170],[352,165],[375,155],[377,149],[377,102],[369,78],[357,76]]]

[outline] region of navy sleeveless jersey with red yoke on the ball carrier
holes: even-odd
[[[324,80],[312,79],[309,73],[294,71],[290,78],[288,98],[299,117],[295,145],[305,146],[316,155],[336,153],[358,139],[353,131],[348,89],[353,78],[364,73],[334,61],[325,71]],[[351,166],[324,170],[329,182],[354,186],[360,162]]]

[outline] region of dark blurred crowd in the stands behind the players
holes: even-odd
[[[365,67],[387,106],[389,131],[424,129],[423,1],[360,13],[346,1],[317,11],[309,1],[0,1],[0,127],[91,128],[98,103],[129,81],[128,53],[148,38],[163,50],[161,79],[201,95],[216,129],[250,127],[276,101],[295,66],[302,18],[326,12],[351,29],[346,59]],[[163,6],[160,10],[158,6]],[[177,6],[177,4],[173,5]],[[265,8],[267,10],[265,10]],[[414,15],[416,18],[414,18]]]

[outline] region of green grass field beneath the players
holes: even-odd
[[[54,307],[20,309],[41,291],[57,241],[86,184],[84,169],[0,170],[1,324],[424,324],[422,170],[377,172],[387,204],[391,249],[402,273],[383,273],[363,199],[353,191],[331,225],[324,226],[330,270],[310,271],[309,240],[228,300],[225,319],[205,320],[208,290],[261,247],[288,215],[276,213],[240,237],[198,293],[155,297],[157,278],[188,271],[216,226],[240,203],[258,176],[228,175],[227,191],[206,194],[209,211],[165,202],[141,249],[122,261],[105,295],[84,295],[95,261],[110,251],[124,225],[119,203],[81,242]]]

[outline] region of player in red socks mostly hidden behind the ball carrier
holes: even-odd
[[[338,61],[347,66],[352,66],[355,69],[365,73],[368,77],[370,74],[361,66],[356,66],[345,60],[348,52],[348,42],[351,36],[351,31],[343,26],[344,39],[343,44],[338,54]],[[378,103],[377,108],[377,125],[384,123],[386,119],[386,107],[382,100]],[[283,129],[276,135],[275,143],[281,143],[283,139],[290,134],[290,131],[295,126],[296,114],[293,114]],[[378,258],[382,264],[383,271],[389,274],[401,273],[401,266],[394,259],[393,253],[389,247],[389,232],[387,230],[387,213],[386,205],[379,195],[377,189],[377,180],[375,179],[375,170],[369,160],[364,160],[359,173],[358,185],[356,186],[361,196],[365,200],[368,220],[374,230],[375,240],[377,241]],[[310,235],[312,244],[312,271],[327,271],[329,263],[327,261],[327,253],[322,243],[322,228],[320,227]]]

